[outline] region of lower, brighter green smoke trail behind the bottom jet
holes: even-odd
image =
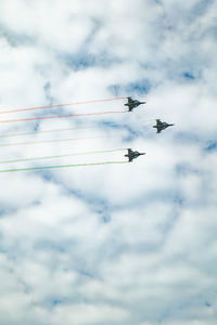
[[[104,161],[104,162],[88,162],[77,165],[58,165],[58,166],[41,166],[41,167],[28,167],[28,168],[13,168],[2,169],[0,172],[13,172],[13,171],[30,171],[40,169],[54,169],[54,168],[67,168],[67,167],[81,167],[81,166],[97,166],[97,165],[113,165],[113,164],[127,164],[128,161]]]

